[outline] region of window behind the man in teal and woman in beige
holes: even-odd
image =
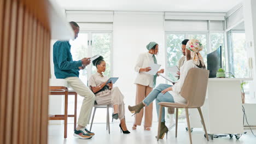
[[[79,33],[78,38],[75,40],[70,40],[71,53],[73,61],[78,61],[84,57],[91,57],[95,55],[101,55],[107,63],[107,68],[104,75],[110,77],[110,53],[111,53],[111,43],[112,43],[112,33]],[[91,74],[96,73],[96,67],[92,66],[92,62],[84,70],[79,71],[79,78],[88,85],[88,80]],[[83,97],[78,96],[77,101],[77,113],[79,115],[80,109],[83,102]],[[70,98],[68,100],[68,113],[73,113],[74,109],[74,99]],[[73,118],[69,118],[69,123],[73,123]],[[98,109],[95,115],[94,122],[106,122],[106,110]]]

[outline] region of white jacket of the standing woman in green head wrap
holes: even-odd
[[[149,75],[143,72],[139,73],[139,69],[149,67],[150,63],[154,63],[153,55],[149,52],[141,53],[137,59],[137,63],[135,65],[135,71],[138,73],[135,84],[143,85],[143,86],[154,86],[154,76]]]

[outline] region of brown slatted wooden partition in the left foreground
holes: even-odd
[[[0,143],[47,143],[48,0],[0,0]]]

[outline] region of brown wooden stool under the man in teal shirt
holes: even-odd
[[[74,130],[77,127],[77,93],[68,91],[67,87],[50,86],[50,95],[65,95],[64,115],[49,115],[49,120],[64,120],[64,138],[67,138],[67,118],[74,117]],[[68,95],[74,95],[74,115],[68,115]]]

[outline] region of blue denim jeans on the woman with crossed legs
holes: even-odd
[[[156,112],[158,113],[159,117],[159,104],[160,102],[170,102],[174,103],[173,97],[169,92],[166,92],[165,94],[161,93],[164,89],[171,87],[171,85],[167,84],[160,84],[158,85],[155,89],[153,89],[152,92],[148,94],[148,97],[146,97],[143,100],[143,103],[146,104],[147,106],[151,104],[154,100],[156,103]],[[165,109],[162,107],[162,117],[161,117],[161,122],[165,122]]]

